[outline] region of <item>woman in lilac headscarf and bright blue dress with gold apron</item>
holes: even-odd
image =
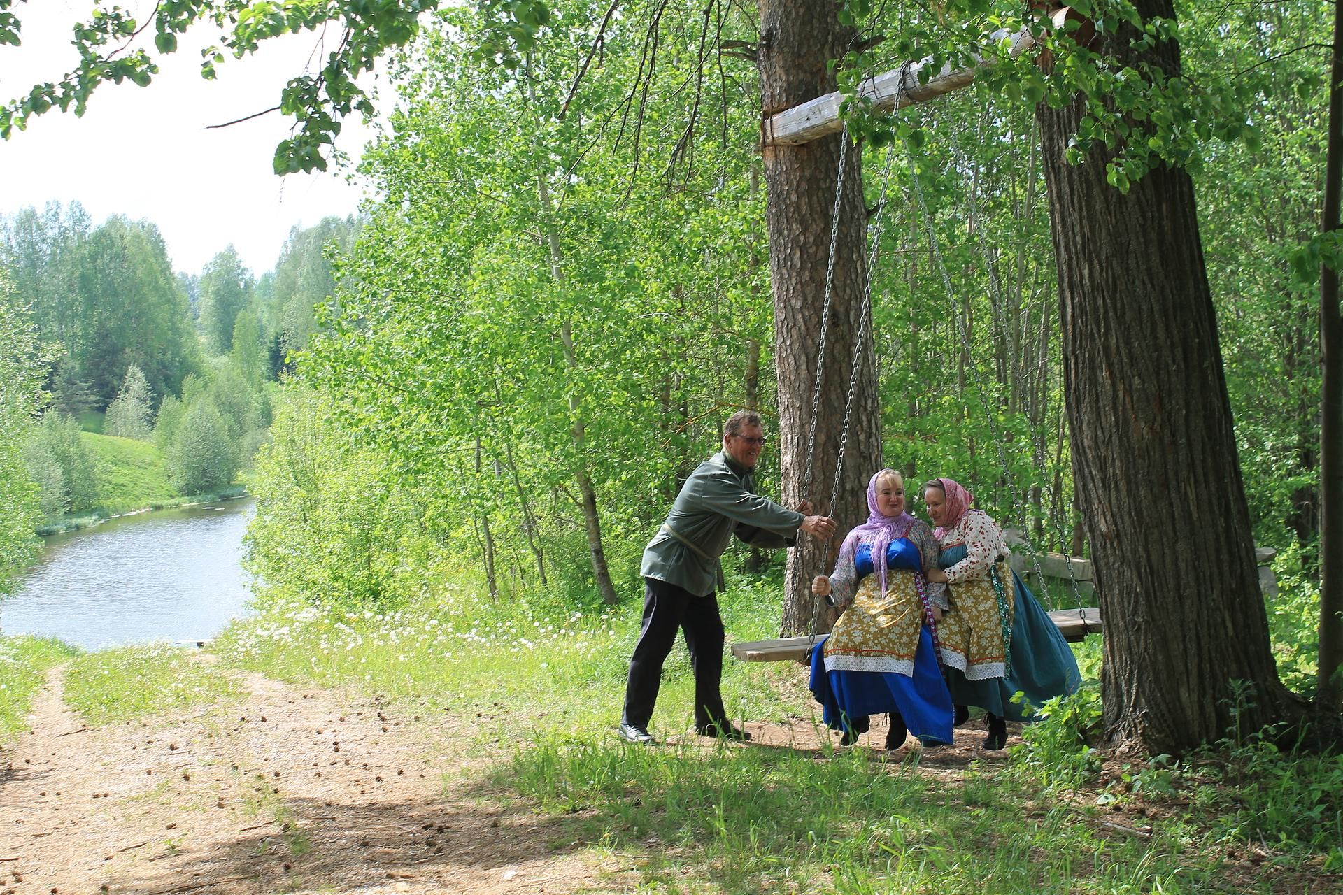
[[[811,653],[811,692],[841,745],[868,730],[869,717],[890,714],[886,749],[905,733],[923,742],[952,741],[952,703],[937,667],[936,620],[945,588],[928,586],[937,542],[928,525],[905,513],[904,479],[881,470],[868,483],[868,522],[843,539],[830,576],[813,592],[845,607],[830,636]]]

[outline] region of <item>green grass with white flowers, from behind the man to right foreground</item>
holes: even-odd
[[[739,584],[731,636],[768,636],[776,600]],[[1029,730],[1009,759],[893,757],[788,742],[719,747],[690,735],[682,648],[658,733],[616,741],[634,607],[598,617],[481,604],[465,590],[385,615],[275,609],[216,641],[226,662],[294,682],[353,684],[391,704],[469,721],[493,782],[649,891],[1339,891],[1343,759],[1253,737],[1190,762],[1104,761],[1082,743],[1092,694]],[[1099,641],[1082,648],[1093,674]],[[796,666],[729,660],[735,718],[808,731]],[[967,734],[975,737],[976,734]],[[814,741],[813,741],[814,742]]]

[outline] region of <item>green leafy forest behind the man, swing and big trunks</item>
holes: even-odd
[[[643,543],[721,420],[775,407],[756,12],[565,5],[504,28],[492,12],[441,13],[392,60],[395,111],[360,162],[380,199],[357,228],[295,235],[304,266],[334,238],[333,270],[305,288],[274,291],[279,268],[254,287],[227,251],[199,283],[175,278],[148,223],[93,228],[74,207],[7,221],[9,543],[95,506],[70,447],[87,439],[62,417],[106,409],[113,432],[148,437],[154,420],[181,492],[205,487],[187,459],[216,458],[214,487],[262,445],[247,482],[263,601],[395,607],[451,580],[595,611],[638,592]],[[1303,247],[1328,9],[1178,12],[1190,81],[1234,83],[1245,106],[1197,136],[1189,166],[1256,537],[1301,576],[1291,609],[1270,608],[1296,620],[1279,659],[1309,692],[1320,353]],[[873,64],[912,51],[892,42]],[[911,480],[958,478],[1035,549],[1084,554],[1031,91],[990,79],[902,113],[892,156],[865,144],[869,205],[890,197],[881,431]],[[228,450],[185,450],[187,433]],[[5,557],[12,574],[27,554]]]

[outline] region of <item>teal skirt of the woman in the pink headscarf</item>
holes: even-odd
[[[1009,721],[1035,721],[1035,711],[1054,696],[1077,692],[1082,676],[1064,635],[1049,619],[1035,594],[1015,572],[1011,644],[1011,671],[1006,678],[966,680],[947,668],[947,687],[958,706],[979,706]],[[1013,702],[1021,691],[1022,700]]]

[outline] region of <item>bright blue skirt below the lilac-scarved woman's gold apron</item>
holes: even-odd
[[[825,637],[811,651],[811,692],[822,706],[826,726],[866,730],[868,715],[894,713],[924,742],[950,743],[951,694],[941,678],[928,628],[919,633],[912,678],[877,671],[826,671]],[[847,721],[846,721],[847,719]],[[860,719],[862,719],[860,722]]]

